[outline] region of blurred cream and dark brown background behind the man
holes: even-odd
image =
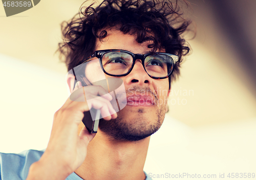
[[[186,34],[192,53],[172,84],[144,170],[256,173],[256,2],[188,2],[183,11],[197,35]],[[10,17],[0,6],[0,152],[47,147],[53,115],[68,98],[67,69],[54,54],[60,23],[82,3],[43,0]]]

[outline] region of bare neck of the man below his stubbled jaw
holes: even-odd
[[[150,137],[139,142],[115,141],[98,131],[88,145],[86,159],[75,173],[86,180],[144,180],[149,141]]]

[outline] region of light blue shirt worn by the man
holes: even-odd
[[[18,154],[0,152],[0,180],[25,180],[29,167],[38,161],[44,150],[26,150]],[[145,180],[152,180],[146,173]],[[76,173],[70,174],[66,180],[83,180]]]

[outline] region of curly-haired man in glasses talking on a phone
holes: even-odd
[[[105,78],[122,79],[127,106],[116,113],[113,97],[105,89],[82,88],[80,81],[74,89],[76,77],[69,74],[70,91],[82,88],[86,98],[94,99],[76,100],[83,93],[75,100],[67,99],[54,115],[45,152],[28,151],[19,155],[22,158],[10,157],[14,163],[22,162],[22,167],[12,167],[15,170],[9,173],[20,174],[12,177],[151,179],[143,172],[150,136],[160,128],[167,112],[170,76],[173,80],[179,74],[179,62],[189,52],[180,37],[189,23],[173,24],[179,18],[175,9],[170,2],[106,0],[96,8],[82,8],[79,18],[62,24],[65,40],[59,51],[68,70],[86,61],[87,81],[96,82],[102,79],[101,66]],[[96,55],[100,66],[92,61]],[[83,113],[91,108],[100,110],[103,117],[97,134],[90,134],[81,122]],[[3,180],[11,179],[2,171]]]

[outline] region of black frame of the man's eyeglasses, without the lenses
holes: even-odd
[[[131,66],[131,68],[129,69],[129,71],[127,71],[126,73],[124,74],[119,74],[119,75],[116,75],[116,74],[110,74],[108,72],[105,71],[105,69],[103,68],[103,65],[102,65],[102,57],[104,56],[104,54],[106,53],[109,53],[109,52],[123,52],[123,53],[127,53],[129,55],[131,55],[133,57],[133,64]],[[172,69],[170,70],[170,72],[166,75],[166,76],[163,76],[163,77],[155,77],[155,76],[152,76],[150,74],[148,74],[148,72],[146,71],[146,68],[145,68],[145,58],[147,56],[151,56],[151,55],[166,55],[170,58],[170,60],[172,60],[172,63],[173,63],[173,66],[172,66]],[[173,57],[172,57],[173,56]],[[165,78],[168,78],[172,73],[173,73],[173,70],[174,70],[174,67],[175,67],[175,64],[178,62],[179,60],[179,57],[177,55],[172,55],[172,54],[169,54],[169,53],[147,53],[147,54],[134,54],[134,53],[131,53],[127,50],[119,50],[119,49],[105,49],[105,50],[96,50],[91,56],[89,56],[83,63],[86,63],[88,62],[89,59],[91,58],[99,58],[100,59],[100,66],[101,66],[101,69],[103,70],[103,72],[107,75],[111,75],[111,76],[115,76],[115,77],[120,77],[120,76],[125,76],[125,75],[128,75],[132,70],[133,70],[133,67],[135,65],[135,62],[137,59],[140,59],[141,60],[141,63],[142,63],[142,66],[145,70],[145,72],[152,78],[152,79],[165,79]],[[176,61],[174,61],[174,58],[176,58]],[[90,60],[89,60],[90,61]],[[82,64],[83,64],[82,63]]]

